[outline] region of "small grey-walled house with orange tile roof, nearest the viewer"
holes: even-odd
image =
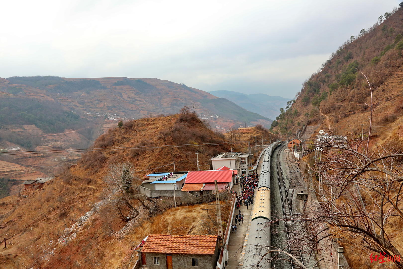
[[[215,269],[219,252],[217,235],[150,234],[141,248],[141,260],[148,269]]]

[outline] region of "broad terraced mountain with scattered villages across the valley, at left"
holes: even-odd
[[[27,106],[40,103],[42,109],[29,111],[30,117],[22,118],[19,110],[8,115],[8,109],[0,111],[0,149],[20,146],[23,150],[54,150],[88,148],[93,141],[118,121],[129,121],[157,115],[171,115],[185,105],[209,122],[210,126],[223,130],[232,129],[244,123],[270,126],[271,121],[251,113],[223,98],[218,98],[180,83],[156,78],[129,79],[125,77],[106,78],[60,78],[60,77],[10,77],[0,78],[0,106],[25,102]],[[49,78],[49,77],[48,77]],[[23,101],[20,101],[23,100]],[[195,107],[193,108],[193,104]],[[61,111],[74,113],[79,119],[64,126],[64,130],[47,131],[38,122],[27,121],[52,106]],[[206,119],[207,118],[207,119]],[[4,120],[8,122],[5,123]],[[44,117],[39,123],[48,121]],[[52,125],[52,121],[49,121]],[[34,125],[36,124],[36,126]],[[33,126],[35,132],[31,132]],[[217,127],[219,126],[219,127]],[[60,128],[59,128],[60,129]],[[39,130],[42,133],[38,133]],[[54,175],[54,167],[71,164],[79,156],[47,154],[27,156],[0,156],[2,161],[23,166],[35,166],[39,171]],[[60,161],[63,158],[65,161]],[[67,160],[65,159],[67,158]],[[44,163],[44,165],[40,165]]]

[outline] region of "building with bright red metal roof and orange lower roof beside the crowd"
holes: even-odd
[[[218,190],[229,192],[235,183],[235,173],[233,169],[189,171],[182,191],[195,196],[202,196],[204,190],[208,191],[206,194],[211,194],[212,190],[215,189],[214,180],[217,180]]]

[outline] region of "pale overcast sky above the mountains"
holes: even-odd
[[[400,0],[4,1],[0,77],[156,77],[293,98]]]

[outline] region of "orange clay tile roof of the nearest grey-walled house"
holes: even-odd
[[[217,237],[149,234],[141,252],[212,255],[216,251]]]

